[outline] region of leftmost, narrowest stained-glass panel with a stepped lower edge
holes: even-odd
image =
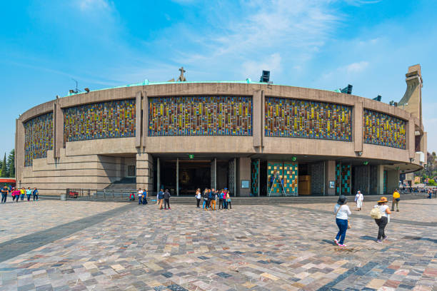
[[[46,158],[47,150],[53,150],[52,112],[24,123],[24,166],[31,166],[35,158]]]

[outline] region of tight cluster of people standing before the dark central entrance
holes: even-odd
[[[202,195],[200,188],[196,190],[197,208],[200,208],[201,199],[204,198],[202,209],[204,210],[221,210],[232,209],[231,195],[228,188],[216,191],[214,188],[206,188]],[[218,209],[217,209],[218,205]]]

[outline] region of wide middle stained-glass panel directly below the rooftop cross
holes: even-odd
[[[251,136],[252,98],[149,98],[149,136]]]

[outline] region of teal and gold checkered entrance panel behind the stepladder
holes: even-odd
[[[268,177],[268,191],[271,196],[283,195],[281,184],[278,180],[274,180],[272,184],[272,177],[275,173],[279,174],[279,178],[283,180],[283,188],[286,196],[298,195],[298,163],[289,162],[268,162],[267,177]],[[272,188],[273,185],[273,188]]]

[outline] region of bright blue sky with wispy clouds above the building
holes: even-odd
[[[15,119],[65,96],[167,81],[271,81],[399,101],[420,63],[428,150],[437,150],[437,1],[5,1],[0,155]]]

